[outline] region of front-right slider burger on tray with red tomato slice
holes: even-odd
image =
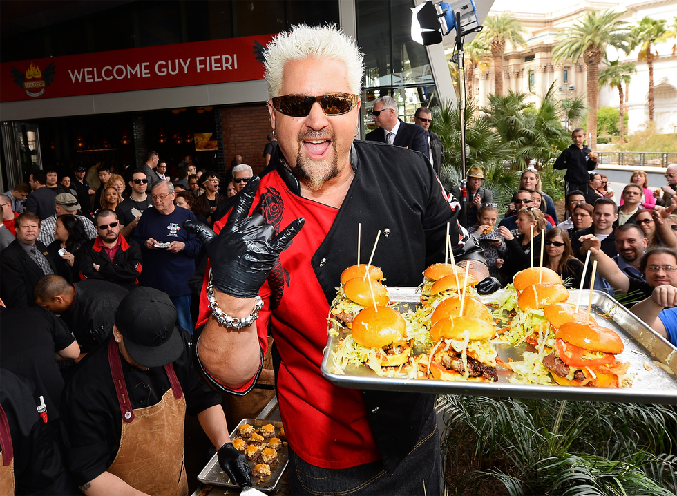
[[[543,365],[557,384],[619,388],[628,381],[630,364],[616,359],[623,341],[611,329],[571,320],[560,325],[555,338],[555,350],[544,356]]]

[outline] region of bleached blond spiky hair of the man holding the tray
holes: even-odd
[[[335,59],[347,70],[350,93],[360,94],[364,75],[364,54],[354,39],[334,24],[327,26],[292,26],[281,32],[266,47],[265,79],[270,97],[280,96],[285,64],[290,60]]]

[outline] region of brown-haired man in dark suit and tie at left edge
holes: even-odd
[[[37,240],[40,219],[24,212],[15,220],[17,239],[0,253],[0,297],[8,308],[36,305],[33,288],[56,267],[47,247]]]

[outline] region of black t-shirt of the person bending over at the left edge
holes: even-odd
[[[2,309],[0,330],[0,367],[33,381],[45,397],[48,418],[58,419],[64,379],[54,353],[75,341],[68,327],[43,307],[28,307]]]

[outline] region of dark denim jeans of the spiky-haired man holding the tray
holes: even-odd
[[[430,415],[419,442],[392,475],[381,461],[343,469],[316,467],[289,447],[289,488],[294,496],[439,496],[439,450],[435,414]]]

